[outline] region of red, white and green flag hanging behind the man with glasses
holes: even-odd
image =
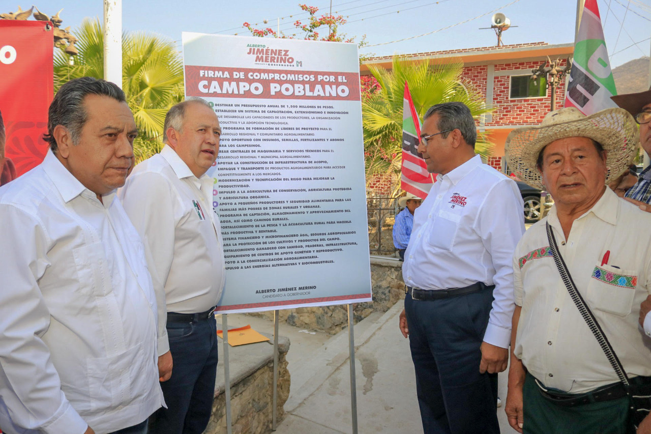
[[[400,168],[400,188],[424,199],[432,188],[432,177],[427,171],[425,160],[418,153],[421,137],[421,123],[413,106],[409,85],[405,82],[402,102],[402,167]]]

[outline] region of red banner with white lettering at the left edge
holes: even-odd
[[[0,184],[38,166],[48,152],[42,137],[53,98],[53,41],[51,23],[0,20],[0,112],[6,135]]]

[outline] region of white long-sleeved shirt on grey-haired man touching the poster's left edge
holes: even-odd
[[[199,313],[215,306],[225,265],[212,178],[197,179],[176,151],[138,164],[120,189],[124,209],[148,247],[158,298],[158,353],[169,351],[167,312]],[[166,306],[167,305],[167,306]]]

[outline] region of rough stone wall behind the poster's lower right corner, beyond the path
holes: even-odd
[[[397,259],[372,256],[370,274],[373,302],[353,305],[355,323],[365,319],[371,312],[389,310],[398,300],[404,298],[402,262]],[[337,334],[348,325],[347,309],[345,305],[284,309],[279,311],[279,321],[286,321],[289,325],[300,328]],[[273,311],[249,313],[249,315],[273,319]]]

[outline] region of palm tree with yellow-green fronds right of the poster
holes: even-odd
[[[462,63],[430,65],[428,61],[411,62],[393,57],[391,70],[369,65],[377,80],[368,87],[362,100],[362,125],[368,184],[392,184],[392,195],[398,190],[402,157],[402,105],[405,82],[419,119],[428,108],[441,102],[459,101],[466,104],[477,119],[486,108],[484,98],[471,83],[462,80]],[[486,157],[492,144],[478,134],[475,151]]]

